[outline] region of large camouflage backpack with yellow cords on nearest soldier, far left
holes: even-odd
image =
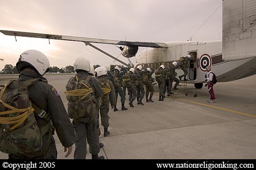
[[[18,80],[10,80],[0,92],[0,151],[13,155],[39,156],[49,147],[42,148],[42,136],[49,132],[52,135],[52,122],[43,127],[38,126],[34,112],[39,108],[31,103],[28,86],[39,79],[29,79],[22,84]],[[13,87],[10,87],[11,84]],[[33,108],[33,107],[35,108]],[[40,109],[40,111],[43,111]],[[46,112],[37,113],[45,117]],[[50,138],[48,138],[50,139]]]

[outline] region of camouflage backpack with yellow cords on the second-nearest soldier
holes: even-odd
[[[75,120],[82,117],[91,117],[96,113],[96,102],[90,87],[91,76],[78,78],[76,75],[68,80],[65,95],[68,100],[68,116]]]

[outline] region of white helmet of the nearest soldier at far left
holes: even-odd
[[[19,73],[25,67],[31,67],[38,74],[44,75],[49,69],[49,60],[46,55],[38,50],[26,50],[20,54],[19,60],[16,63]]]

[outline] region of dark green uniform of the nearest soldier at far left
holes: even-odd
[[[38,73],[23,70],[20,72],[18,82],[19,84],[21,84],[25,80],[35,78],[41,78],[43,80],[46,80]],[[28,94],[32,103],[34,103],[40,109],[48,112],[51,116],[51,121],[53,122],[53,126],[56,130],[61,144],[64,147],[72,146],[73,143],[75,143],[76,141],[75,132],[57,90],[46,82],[38,81],[28,88]],[[48,122],[45,119],[40,118],[38,114],[35,114],[35,118],[38,122],[39,127],[46,125]],[[44,148],[44,146],[47,145],[48,134],[49,133],[43,135],[42,149]],[[50,140],[50,145],[44,155],[36,156],[34,158],[28,158],[24,155],[10,154],[9,159],[56,159],[57,150],[53,135],[51,135]]]

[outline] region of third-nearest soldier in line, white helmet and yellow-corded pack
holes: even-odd
[[[117,100],[115,99],[115,88],[113,83],[106,79],[107,70],[105,67],[97,67],[95,71],[95,76],[101,82],[101,88],[104,92],[104,96],[101,97],[101,107],[98,110],[98,113],[101,114],[101,125],[104,127],[104,137],[108,136],[110,132],[108,131],[109,127],[109,103],[111,109],[114,105],[117,105]]]

